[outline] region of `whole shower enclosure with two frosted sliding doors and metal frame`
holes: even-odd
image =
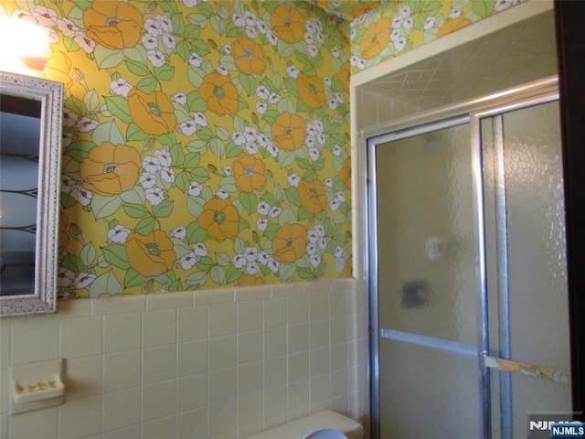
[[[367,181],[372,437],[548,437],[529,421],[571,410],[557,78],[388,125]]]

